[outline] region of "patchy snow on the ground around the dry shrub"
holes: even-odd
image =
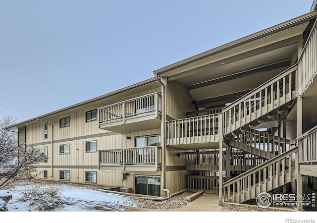
[[[133,201],[127,197],[104,193],[85,187],[72,186],[70,184],[50,184],[61,189],[61,196],[69,204],[58,211],[82,212],[82,211],[125,211],[128,207],[137,207]],[[12,200],[7,203],[9,212],[33,211],[23,203],[17,203],[16,198],[19,196],[19,190],[26,190],[28,187],[48,186],[45,184],[20,184],[8,189],[12,194]]]

